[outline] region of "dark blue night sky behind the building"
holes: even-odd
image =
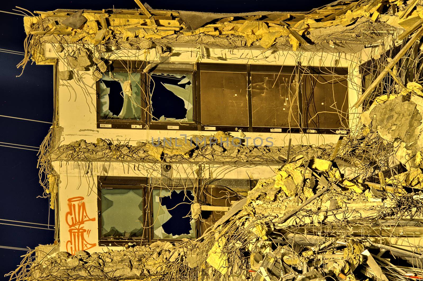
[[[144,1],[143,1],[144,2]],[[148,1],[152,8],[186,11],[241,13],[250,11],[309,11],[332,1]],[[52,11],[54,9],[137,8],[132,0],[120,1],[4,1],[2,10],[14,12],[15,5],[29,11]],[[0,49],[23,52],[25,33],[22,16],[0,13],[3,26],[0,29]],[[24,74],[16,69],[21,55],[0,52],[0,115],[14,116],[51,122],[53,106],[52,66],[27,65]],[[14,143],[38,147],[47,134],[49,124],[0,117],[0,145]],[[19,265],[22,250],[4,247],[34,248],[38,244],[53,242],[52,230],[28,228],[47,227],[36,224],[54,224],[54,211],[49,212],[48,200],[37,198],[43,190],[38,184],[37,152],[0,146],[0,280],[5,273]],[[25,221],[36,224],[24,224]],[[6,224],[19,224],[11,226]]]

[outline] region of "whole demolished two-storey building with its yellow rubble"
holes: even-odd
[[[423,278],[423,3],[36,11],[55,243],[11,280]]]

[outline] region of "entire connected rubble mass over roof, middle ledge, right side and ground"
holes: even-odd
[[[54,52],[65,52],[61,57],[74,68],[60,72],[59,78],[78,83],[78,71],[92,70],[94,80],[100,79],[111,50],[116,49],[155,49],[161,57],[170,57],[178,55],[166,46],[173,42],[294,50],[300,44],[311,48],[319,43],[341,52],[388,37],[391,43],[412,37],[354,104],[358,107],[366,100],[370,105],[363,107],[358,129],[334,145],[257,147],[217,132],[205,140],[192,136],[182,143],[157,139],[129,145],[98,139],[50,147],[50,132],[41,147],[40,166],[46,173],[41,184],[52,199],[59,179],[51,161],[251,161],[280,168],[274,177],[259,180],[244,199],[233,202],[196,240],[128,244],[121,251],[74,256],[45,253],[37,259],[29,252],[8,274],[11,280],[423,279],[419,41],[423,6],[419,1],[337,1],[308,13],[289,14],[160,11],[136,2],[140,10],[56,10],[25,17],[27,55],[21,66],[29,54],[37,63],[52,63],[44,57],[46,42],[55,44]],[[78,46],[69,51],[64,48],[67,44]],[[381,43],[379,51],[393,46]],[[212,60],[225,59],[205,54]],[[382,81],[387,75],[392,79]],[[379,91],[380,84],[388,85]],[[195,218],[205,221],[201,208]]]

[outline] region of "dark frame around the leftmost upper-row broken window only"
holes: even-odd
[[[140,81],[144,81],[141,84],[141,92],[147,93],[146,88],[146,74],[143,72],[144,68],[148,64],[145,60],[112,60],[111,65],[107,67],[107,71],[113,72],[128,72],[140,73]],[[138,67],[137,67],[138,66]],[[99,79],[96,82],[96,117],[97,117],[97,128],[114,128],[114,129],[128,129],[128,128],[145,128],[146,127],[146,113],[144,112],[146,104],[143,103],[141,98],[141,120],[129,120],[129,119],[102,119],[100,118],[100,87]],[[142,93],[141,93],[142,94]]]

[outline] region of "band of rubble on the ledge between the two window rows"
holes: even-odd
[[[294,145],[290,157],[320,157],[333,145],[319,147]],[[245,145],[244,139],[233,138],[222,131],[210,136],[192,136],[186,140],[162,139],[153,142],[113,143],[97,139],[96,143],[81,139],[62,145],[52,152],[52,161],[244,161],[281,162],[286,160],[288,147]]]

